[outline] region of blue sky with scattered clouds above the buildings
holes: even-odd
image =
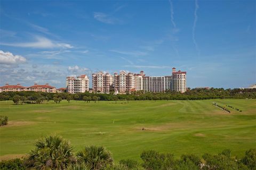
[[[255,1],[0,1],[0,84],[187,71],[187,86],[256,82]],[[91,82],[90,82],[91,84]]]

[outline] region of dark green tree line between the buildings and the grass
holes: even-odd
[[[110,94],[100,93],[78,93],[68,94],[66,92],[60,94],[34,91],[20,91],[20,92],[2,92],[0,93],[0,100],[13,100],[15,104],[37,103],[40,104],[44,100],[54,100],[55,103],[60,103],[61,100],[84,100],[86,102],[99,100],[117,101],[117,100],[203,100],[203,99],[225,99],[225,98],[256,98],[256,89],[188,89],[185,93],[176,91],[166,92],[143,92],[134,91],[131,94],[117,94],[110,92]]]

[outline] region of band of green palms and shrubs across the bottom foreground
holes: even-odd
[[[0,169],[69,169],[69,170],[249,170],[256,169],[256,149],[245,151],[243,157],[231,155],[229,149],[219,154],[181,155],[175,159],[171,153],[155,150],[143,151],[142,162],[122,159],[114,162],[109,150],[102,146],[85,146],[73,152],[70,143],[58,136],[50,136],[35,142],[26,157],[0,162]]]

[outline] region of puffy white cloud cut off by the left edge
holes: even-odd
[[[3,52],[0,50],[0,64],[4,65],[13,65],[13,64],[21,64],[25,63],[27,60],[25,57],[20,55],[13,55],[10,52]]]

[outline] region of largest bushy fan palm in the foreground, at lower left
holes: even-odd
[[[34,169],[67,169],[76,162],[68,141],[57,136],[45,137],[35,143],[27,158]]]

